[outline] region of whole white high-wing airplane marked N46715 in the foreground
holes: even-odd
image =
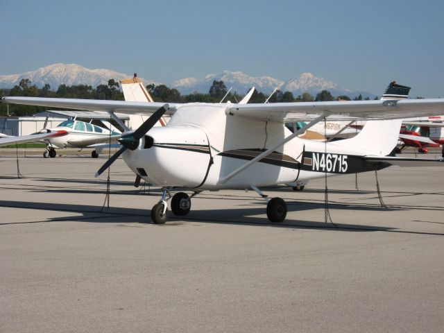
[[[392,157],[400,118],[444,113],[443,99],[308,102],[273,104],[144,103],[81,99],[4,97],[8,103],[108,112],[154,112],[137,130],[123,133],[121,148],[96,176],[122,155],[136,174],[162,187],[162,198],[151,210],[154,223],[167,221],[167,196],[175,188],[193,191],[171,198],[171,210],[185,215],[191,197],[203,190],[254,189],[267,201],[273,222],[283,221],[287,204],[267,198],[259,187],[288,184],[324,176],[383,169],[391,164],[436,165],[439,161]],[[153,127],[171,114],[164,127]],[[314,142],[298,135],[315,123],[368,120],[361,132],[339,142]],[[285,121],[309,121],[291,133]]]

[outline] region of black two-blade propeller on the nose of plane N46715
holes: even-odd
[[[103,173],[103,171],[108,169],[110,165],[114,163],[114,161],[117,160],[117,158],[119,158],[119,156],[124,151],[126,151],[126,149],[130,149],[131,151],[137,149],[137,147],[139,146],[140,139],[142,139],[142,137],[146,135],[148,130],[151,130],[151,128],[153,128],[155,123],[157,123],[157,121],[159,121],[159,119],[164,115],[164,113],[167,112],[167,109],[168,109],[168,104],[165,104],[164,106],[162,106],[162,108],[158,109],[156,112],[151,114],[151,117],[146,119],[146,121],[144,121],[144,123],[142,123],[142,125],[139,126],[137,130],[135,130],[134,132],[124,133],[121,137],[119,137],[117,141],[120,142],[122,147],[116,153],[114,153],[114,155],[112,155],[110,159],[105,162],[105,164],[103,164],[103,166],[99,169],[99,171],[96,172],[95,177],[96,178],[99,177]]]

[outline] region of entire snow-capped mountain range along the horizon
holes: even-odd
[[[108,84],[110,78],[114,80],[121,80],[123,78],[130,78],[132,74],[122,74],[110,69],[87,69],[75,64],[53,64],[46,67],[36,69],[35,71],[28,71],[22,74],[0,75],[0,89],[12,88],[18,85],[22,78],[31,80],[31,84],[37,87],[43,87],[46,83],[51,85],[51,89],[57,89],[59,85],[91,85],[96,87],[101,84]],[[160,85],[153,80],[144,80],[145,85],[155,84]],[[278,88],[282,92],[292,92],[293,96],[301,95],[303,92],[309,92],[316,96],[318,92],[324,89],[329,90],[333,96],[347,95],[354,98],[359,94],[373,99],[374,94],[368,92],[351,92],[348,89],[343,89],[336,83],[324,78],[318,78],[311,73],[303,73],[300,76],[284,82],[277,78],[270,76],[248,76],[241,71],[222,71],[219,74],[208,74],[203,78],[181,78],[176,80],[173,87],[178,89],[180,94],[189,94],[191,92],[207,93],[213,84],[213,80],[223,80],[227,89],[233,87],[232,92],[238,94],[245,94],[248,89],[255,86],[257,91],[264,94],[271,94],[273,89]]]

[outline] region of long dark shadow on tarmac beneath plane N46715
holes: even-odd
[[[302,206],[302,207],[301,207]],[[307,207],[306,207],[307,206]],[[22,201],[12,200],[0,200],[0,207],[15,207],[21,209],[31,210],[46,210],[55,212],[72,212],[77,215],[62,216],[53,219],[44,219],[43,221],[28,221],[28,222],[14,222],[3,221],[0,225],[10,224],[26,224],[26,223],[49,223],[49,222],[87,222],[87,223],[138,223],[140,225],[151,224],[150,211],[137,208],[122,208],[122,207],[110,207],[109,210],[104,209],[101,211],[101,207],[96,205],[74,205],[66,203],[28,203]],[[289,212],[305,210],[320,210],[323,208],[321,204],[304,204],[289,205]],[[362,210],[386,210],[382,207],[360,207]],[[356,207],[350,207],[350,205],[331,205],[330,209],[345,209],[356,210]],[[79,216],[78,214],[81,214]],[[289,228],[289,229],[326,229],[336,231],[351,231],[351,232],[369,232],[369,231],[385,231],[385,232],[402,232],[411,234],[444,234],[432,233],[432,232],[416,232],[408,230],[399,230],[398,228],[365,225],[365,224],[345,224],[345,223],[324,223],[323,221],[304,221],[297,219],[288,219],[283,223],[271,223],[266,216],[255,217],[255,215],[263,215],[264,207],[249,207],[249,208],[227,208],[220,210],[196,210],[189,213],[187,216],[174,216],[169,213],[169,222],[165,225],[156,225],[159,227],[168,227],[173,225],[187,225],[187,223],[214,223],[214,224],[227,224],[227,225],[251,225],[262,226],[272,228]],[[223,219],[214,218],[215,216],[224,216]],[[321,219],[321,216],[319,216]]]

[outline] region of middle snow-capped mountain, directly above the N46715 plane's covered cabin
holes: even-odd
[[[182,78],[173,83],[172,87],[178,89],[180,94],[191,92],[207,93],[213,84],[213,80],[223,80],[227,89],[233,87],[232,92],[245,94],[248,89],[255,86],[259,92],[270,94],[275,87],[280,87],[284,81],[270,76],[248,76],[241,71],[223,71],[219,74],[208,74],[204,78]]]

